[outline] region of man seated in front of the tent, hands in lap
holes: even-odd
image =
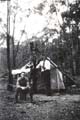
[[[25,77],[25,73],[22,72],[21,73],[21,77],[18,78],[17,80],[17,84],[16,84],[16,95],[15,95],[15,99],[16,102],[18,102],[18,97],[23,96],[24,100],[26,100],[26,94],[29,92],[30,94],[30,99],[31,102],[33,101],[33,96],[32,96],[32,83],[29,82],[28,77]]]

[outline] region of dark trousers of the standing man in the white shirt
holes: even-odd
[[[46,85],[46,94],[51,95],[50,70],[45,70],[41,73],[41,76]]]

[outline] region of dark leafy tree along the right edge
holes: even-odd
[[[68,1],[69,3],[69,1]],[[72,56],[72,70],[73,74],[80,73],[79,70],[79,51],[80,51],[80,43],[79,43],[79,24],[80,24],[80,17],[79,17],[79,12],[80,12],[80,2],[75,1],[74,3],[68,4],[68,11],[64,12],[62,14],[64,18],[64,29],[66,30],[67,28],[69,29],[69,36],[70,38],[70,43],[71,43],[71,56]],[[67,31],[66,31],[67,32]],[[65,32],[65,34],[66,34]],[[64,35],[65,35],[64,34]]]

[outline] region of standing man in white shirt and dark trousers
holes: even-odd
[[[46,84],[46,94],[51,95],[51,83],[50,83],[50,62],[42,56],[42,60],[37,65],[37,68],[41,68],[41,78]]]

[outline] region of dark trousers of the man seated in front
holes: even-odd
[[[25,90],[22,90],[21,88],[16,89],[15,94],[15,100],[18,102],[18,97],[20,97],[20,100],[26,100],[26,95],[29,93],[31,102],[33,101],[33,90],[32,88],[26,88]]]

